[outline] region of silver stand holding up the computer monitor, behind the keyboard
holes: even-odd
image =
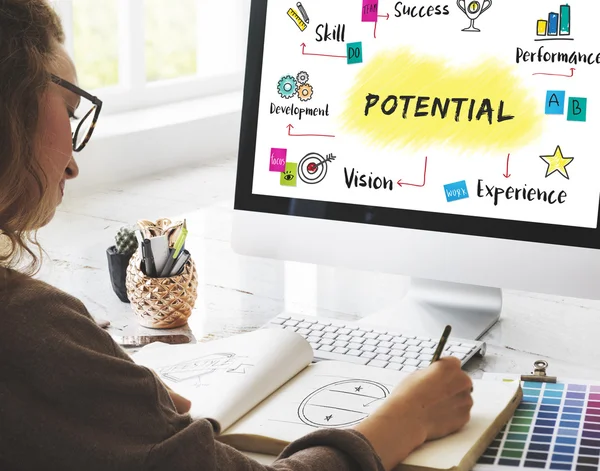
[[[397,306],[359,323],[432,338],[451,325],[453,337],[478,340],[498,321],[501,310],[499,288],[413,278]]]

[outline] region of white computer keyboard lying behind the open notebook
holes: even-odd
[[[429,366],[439,342],[439,338],[314,316],[281,314],[264,328],[302,335],[313,348],[314,361],[336,360],[406,372]],[[464,366],[475,355],[485,355],[485,348],[483,342],[450,337],[442,357],[455,356]]]

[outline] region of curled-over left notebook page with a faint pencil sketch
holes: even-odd
[[[193,418],[225,430],[312,361],[310,344],[282,329],[193,345],[150,345],[134,361],[192,402]]]

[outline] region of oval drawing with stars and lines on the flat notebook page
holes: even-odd
[[[348,427],[368,417],[389,394],[388,388],[375,381],[338,381],[307,396],[298,407],[298,417],[311,427]]]

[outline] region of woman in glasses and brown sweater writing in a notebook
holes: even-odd
[[[75,86],[63,40],[45,0],[0,2],[0,469],[267,469],[192,421],[190,403],[135,365],[80,301],[31,277],[35,263],[15,269],[23,255],[35,261],[30,234],[52,219],[78,175],[73,151],[93,131],[71,135],[79,102],[93,97]],[[461,428],[470,390],[457,360],[436,362],[354,429],[308,435],[270,469],[389,470]]]

